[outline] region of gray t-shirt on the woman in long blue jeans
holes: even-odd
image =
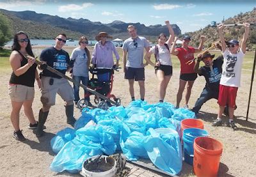
[[[70,56],[70,59],[75,60],[73,67],[73,75],[89,77],[87,66],[88,57],[84,49],[80,49],[80,47],[74,49]]]

